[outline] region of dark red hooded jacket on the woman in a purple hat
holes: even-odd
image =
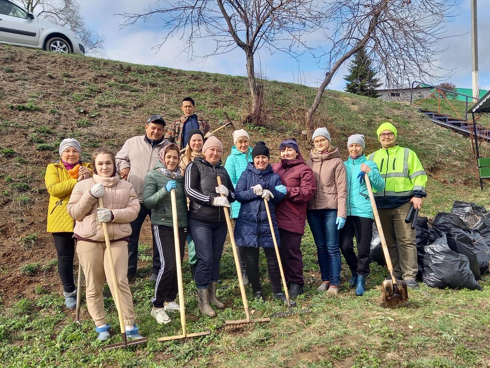
[[[304,234],[306,206],[317,189],[313,171],[301,154],[294,160],[282,159],[274,163],[272,170],[279,174],[282,184],[288,190],[286,199],[275,207],[277,226],[279,229]]]

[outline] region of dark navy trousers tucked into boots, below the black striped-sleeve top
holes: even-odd
[[[220,261],[227,228],[224,222],[204,222],[188,218],[189,231],[196,247],[198,289],[207,289],[220,279]]]

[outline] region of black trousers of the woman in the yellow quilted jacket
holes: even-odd
[[[54,246],[58,255],[58,274],[63,291],[75,291],[73,280],[73,258],[75,256],[75,238],[73,233],[53,233]]]

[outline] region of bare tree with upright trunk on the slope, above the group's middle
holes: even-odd
[[[166,30],[163,42],[180,35],[184,48],[179,52],[193,58],[193,45],[200,39],[215,42],[214,50],[202,57],[228,53],[239,47],[245,53],[250,87],[250,121],[260,118],[261,88],[255,75],[254,55],[262,47],[271,53],[281,51],[291,56],[300,55],[306,45],[302,38],[320,27],[321,0],[177,0],[142,14],[122,15],[123,26],[147,21],[152,15],[162,15]]]

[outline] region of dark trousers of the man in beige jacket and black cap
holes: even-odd
[[[136,268],[138,266],[138,243],[140,241],[140,232],[145,218],[149,217],[151,220],[151,210],[148,210],[143,203],[140,202],[140,212],[138,217],[131,222],[131,235],[127,243],[128,262],[127,262],[127,277],[132,278],[136,276]],[[153,233],[153,232],[152,232]],[[160,270],[160,257],[158,255],[157,245],[155,243],[155,236],[153,235],[153,269],[152,273],[155,275]]]

